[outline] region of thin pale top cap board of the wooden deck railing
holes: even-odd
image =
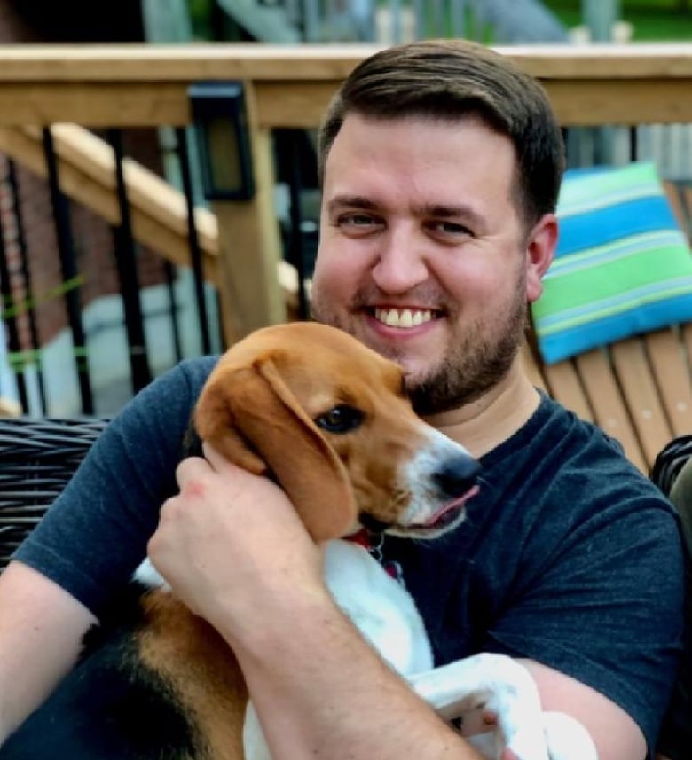
[[[338,81],[373,44],[22,44],[0,48],[0,82]],[[686,79],[689,43],[498,47],[540,79]]]

